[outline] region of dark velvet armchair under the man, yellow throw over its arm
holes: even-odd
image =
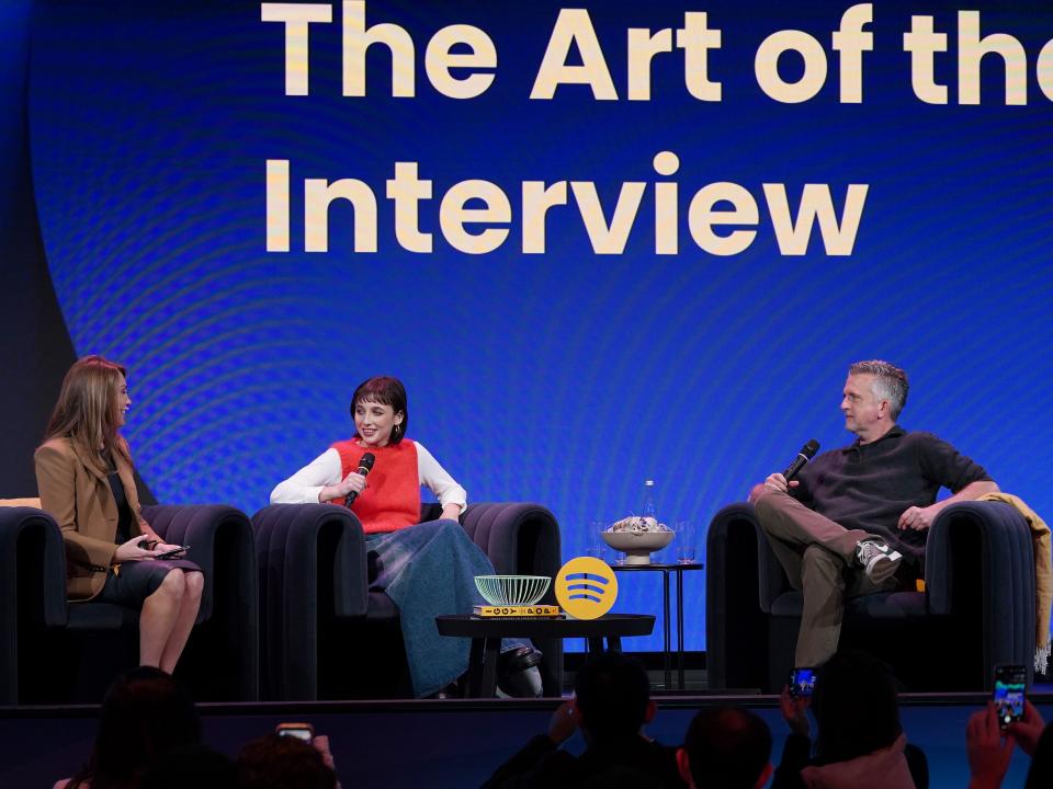
[[[994,666],[1034,655],[1031,530],[1012,507],[962,502],[929,531],[925,592],[856,597],[841,645],[887,661],[907,689],[989,689]],[[706,537],[711,688],[778,693],[793,667],[801,593],[790,587],[751,504],[721,510]]]

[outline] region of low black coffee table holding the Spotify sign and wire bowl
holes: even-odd
[[[499,619],[469,614],[435,617],[441,636],[472,639],[468,686],[465,696],[490,698],[497,695],[497,655],[502,638],[585,638],[589,652],[622,649],[624,636],[649,636],[655,618],[649,614],[607,614],[598,619]]]

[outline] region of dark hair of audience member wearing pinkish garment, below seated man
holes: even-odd
[[[816,756],[824,764],[886,748],[903,732],[892,671],[858,650],[838,652],[818,670],[812,711]]]

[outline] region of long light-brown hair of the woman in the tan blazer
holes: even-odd
[[[102,473],[110,470],[105,457],[111,453],[131,466],[128,445],[117,434],[117,390],[125,377],[123,365],[102,356],[84,356],[75,362],[63,379],[44,441],[69,438],[86,462]]]

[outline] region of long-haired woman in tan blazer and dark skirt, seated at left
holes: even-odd
[[[204,579],[143,518],[128,445],[117,431],[125,370],[101,356],[69,369],[37,448],[41,506],[63,529],[70,601],[141,608],[139,663],[171,673],[197,617]],[[178,556],[178,554],[177,554]]]

